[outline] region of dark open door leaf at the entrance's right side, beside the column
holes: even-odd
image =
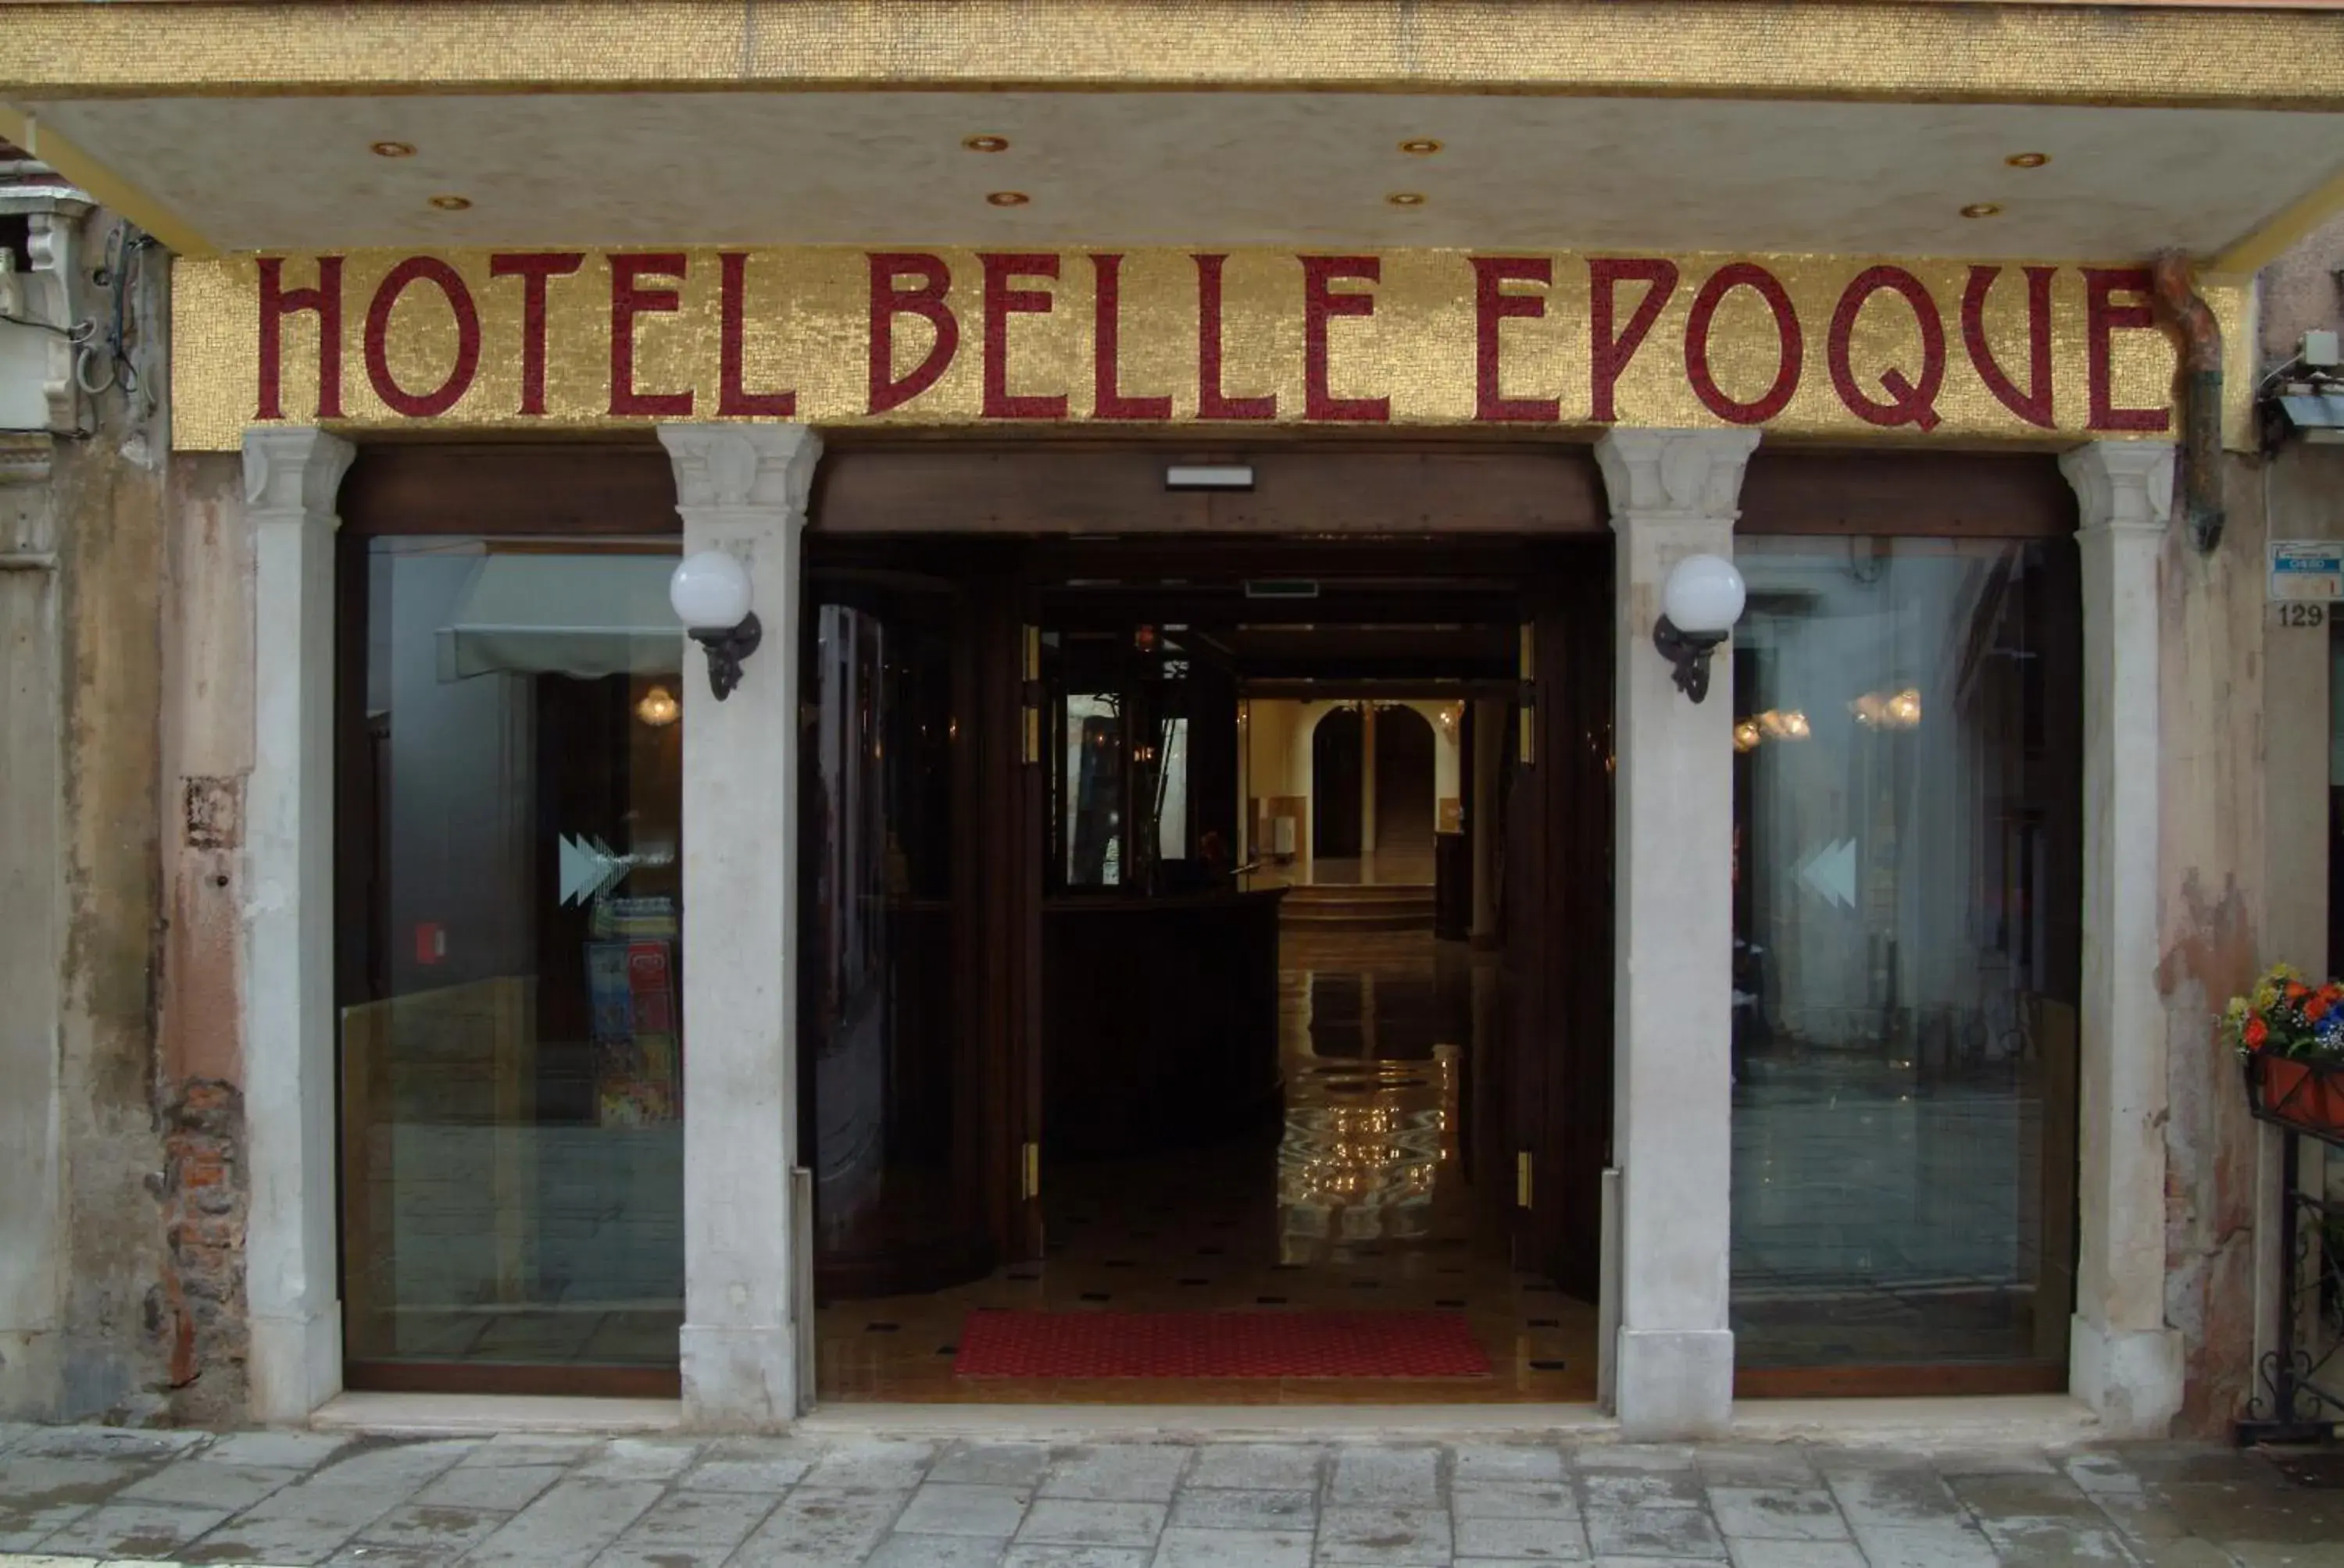
[[[1524,595],[1505,778],[1514,1261],[1596,1298],[1613,1111],[1610,558],[1575,546]]]

